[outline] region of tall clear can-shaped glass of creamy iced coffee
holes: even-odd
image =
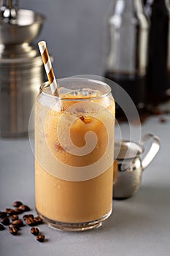
[[[88,230],[112,213],[115,102],[91,78],[49,83],[35,105],[35,201],[51,227]]]

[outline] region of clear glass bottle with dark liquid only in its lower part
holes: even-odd
[[[115,0],[107,26],[109,38],[104,76],[123,87],[138,110],[142,110],[146,97],[149,33],[142,0]]]

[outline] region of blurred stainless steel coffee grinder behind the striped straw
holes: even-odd
[[[44,67],[31,42],[45,16],[20,10],[18,1],[1,1],[0,8],[0,137],[28,135],[28,121]]]

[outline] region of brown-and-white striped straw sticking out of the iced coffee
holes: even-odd
[[[55,94],[56,96],[58,96],[58,86],[57,86],[57,81],[55,79],[55,75],[53,72],[53,67],[50,61],[50,56],[47,50],[47,46],[46,46],[46,42],[45,41],[41,41],[39,42],[39,50],[40,53],[42,55],[42,61],[45,65],[45,71],[47,74],[47,78],[49,80],[50,83],[50,89],[52,94]]]

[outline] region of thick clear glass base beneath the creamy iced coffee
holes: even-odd
[[[40,214],[39,211],[36,210],[36,212],[39,215],[39,217],[41,217],[43,221],[47,223],[49,227],[52,227],[57,230],[65,230],[65,231],[85,231],[85,230],[91,230],[93,228],[101,227],[104,220],[109,218],[109,216],[112,214],[112,210],[111,210],[100,219],[96,219],[90,222],[67,223],[67,222],[57,222],[55,220],[48,219],[47,217]]]

